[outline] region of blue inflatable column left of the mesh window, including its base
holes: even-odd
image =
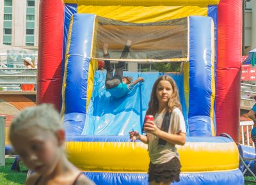
[[[67,135],[80,135],[84,128],[94,26],[92,14],[74,13],[70,20],[61,109]]]

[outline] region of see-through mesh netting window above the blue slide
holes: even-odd
[[[188,19],[136,24],[97,17],[96,47],[93,58],[102,59],[103,45],[108,43],[111,61],[171,62],[186,61],[188,55]],[[131,40],[129,55],[120,59],[127,40]]]

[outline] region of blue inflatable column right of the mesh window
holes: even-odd
[[[190,136],[215,136],[214,24],[211,17],[189,17],[189,63],[184,77]],[[187,73],[187,74],[186,74]]]

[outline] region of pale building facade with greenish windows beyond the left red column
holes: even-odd
[[[38,47],[39,0],[0,0],[0,45]]]

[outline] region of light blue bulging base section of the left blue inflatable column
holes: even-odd
[[[63,117],[63,125],[66,135],[81,135],[86,114],[72,112],[65,114]]]

